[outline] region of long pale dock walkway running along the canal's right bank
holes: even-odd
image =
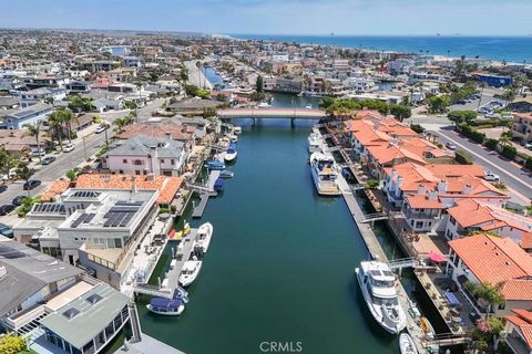
[[[320,134],[321,135],[321,134]],[[323,135],[321,135],[323,138]],[[324,143],[324,146],[327,146]],[[325,148],[328,150],[328,148]],[[362,236],[364,242],[366,243],[366,247],[368,248],[368,251],[371,256],[372,259],[378,259],[381,262],[389,262],[388,257],[385,253],[385,250],[379,243],[379,240],[377,239],[377,236],[375,235],[374,230],[371,229],[369,223],[364,223],[360,222],[360,220],[364,220],[366,218],[362,209],[360,208],[357,198],[355,197],[354,191],[349,187],[349,184],[347,180],[344,178],[341,174],[338,174],[338,187],[341,190],[341,195],[344,197],[344,200],[346,201],[346,205],[349,209],[349,212],[351,214],[351,217]],[[399,287],[397,288],[398,290],[398,298],[399,298],[399,303],[402,306],[402,310],[405,311],[407,315],[407,330],[410,336],[412,337],[416,347],[418,348],[419,353],[426,353],[422,340],[424,337],[424,332],[420,327],[420,325],[417,323],[416,319],[413,319],[408,310],[410,309],[410,299],[408,296],[407,291],[402,287],[401,282],[398,282]]]

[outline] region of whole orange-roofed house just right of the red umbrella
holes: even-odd
[[[513,309],[532,310],[532,257],[513,240],[479,233],[449,241],[449,246],[446,273],[479,314],[503,317]],[[475,299],[468,282],[498,287],[504,301],[493,305]]]

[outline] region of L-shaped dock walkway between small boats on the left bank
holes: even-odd
[[[191,233],[185,236],[177,247],[177,250],[172,250],[176,264],[166,273],[167,283],[164,287],[153,287],[149,284],[137,284],[135,287],[136,293],[142,293],[152,296],[161,296],[171,299],[175,289],[180,285],[180,274],[183,269],[183,264],[191,258],[194,251],[194,240],[196,239],[197,229],[191,229]]]

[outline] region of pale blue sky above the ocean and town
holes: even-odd
[[[531,0],[0,0],[0,28],[529,35]]]

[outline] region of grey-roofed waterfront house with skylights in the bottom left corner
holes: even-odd
[[[80,268],[1,236],[0,249],[0,326],[30,346],[99,353],[127,322],[129,299]]]

